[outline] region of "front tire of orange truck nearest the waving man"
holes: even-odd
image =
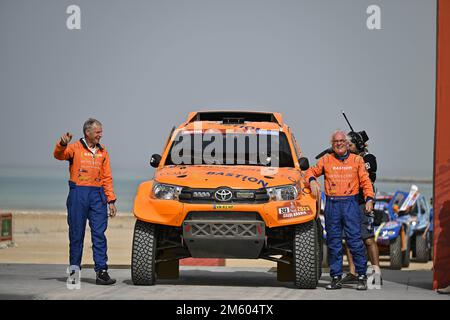
[[[136,220],[131,255],[131,281],[135,285],[155,284],[156,227]]]

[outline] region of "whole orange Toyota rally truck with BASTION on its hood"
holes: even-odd
[[[277,262],[279,281],[316,288],[322,274],[318,202],[291,129],[275,112],[191,112],[173,128],[152,180],[138,187],[131,276],[176,279],[179,259]]]

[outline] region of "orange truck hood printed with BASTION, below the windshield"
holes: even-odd
[[[191,188],[259,189],[300,180],[295,168],[268,168],[256,166],[166,166],[158,169],[155,180]]]

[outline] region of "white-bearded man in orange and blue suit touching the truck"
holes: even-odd
[[[342,231],[353,256],[358,273],[356,289],[367,290],[367,261],[361,238],[361,215],[358,205],[359,189],[366,201],[366,212],[373,209],[374,192],[364,160],[348,150],[345,132],[335,131],[331,136],[333,153],[326,154],[306,172],[311,191],[320,199],[320,186],[316,178],[324,175],[325,229],[330,264],[331,283],[328,290],[341,289],[342,279]]]

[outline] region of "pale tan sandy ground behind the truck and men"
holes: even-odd
[[[135,218],[120,213],[109,220],[106,232],[110,266],[128,266]],[[65,212],[13,212],[13,244],[0,246],[0,263],[67,264],[69,260],[67,215]],[[93,265],[91,236],[86,228],[83,265]],[[275,267],[276,263],[255,259],[227,259],[229,267]],[[388,257],[381,258],[381,266],[388,267]],[[432,263],[411,262],[408,270],[431,270]]]

